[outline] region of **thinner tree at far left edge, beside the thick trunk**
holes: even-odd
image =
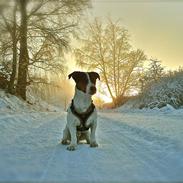
[[[6,14],[4,14],[6,11]],[[2,68],[6,69],[8,92],[14,93],[14,82],[17,71],[17,43],[19,28],[17,25],[17,1],[2,1],[0,3],[0,54]]]

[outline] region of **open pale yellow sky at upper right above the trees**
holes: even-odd
[[[167,69],[183,66],[183,0],[93,0],[92,6],[90,20],[120,20],[135,48]]]

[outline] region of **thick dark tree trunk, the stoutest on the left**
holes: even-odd
[[[26,100],[27,73],[28,73],[28,50],[27,50],[27,0],[19,0],[21,25],[20,25],[20,57],[18,67],[18,81],[16,93]]]

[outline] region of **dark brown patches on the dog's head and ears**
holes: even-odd
[[[100,80],[100,76],[98,73],[96,73],[96,72],[87,72],[87,73],[88,73],[89,79],[93,85],[96,84],[97,78]],[[76,88],[78,90],[81,90],[84,93],[87,92],[86,90],[87,90],[87,85],[89,84],[89,81],[88,81],[86,72],[74,71],[71,74],[69,74],[68,77],[69,77],[69,79],[71,77],[74,79],[74,81],[76,83]],[[92,94],[94,94],[94,93],[96,93],[96,88]]]

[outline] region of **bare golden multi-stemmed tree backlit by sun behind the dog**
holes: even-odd
[[[99,19],[87,27],[82,46],[75,50],[77,63],[97,69],[102,75],[114,105],[131,89],[141,63],[146,59],[142,50],[133,50],[128,31],[119,22]]]

